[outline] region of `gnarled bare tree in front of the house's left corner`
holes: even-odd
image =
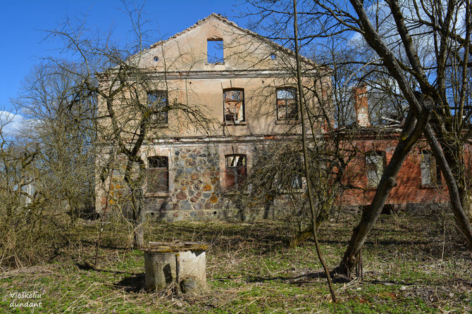
[[[206,127],[207,121],[197,106],[168,99],[175,87],[168,84],[166,70],[175,61],[163,57],[159,75],[144,64],[150,42],[143,9],[125,4],[132,21],[132,40],[126,46],[113,43],[111,34],[97,37],[84,25],[70,21],[49,32],[49,37],[63,41],[66,55],[74,57],[67,62],[50,58],[49,63],[73,80],[72,99],[95,104],[89,118],[97,132],[96,184],[101,187],[99,193],[107,195],[97,203],[101,207],[97,211],[104,216],[104,208],[118,209],[130,222],[135,246],[144,244],[142,207],[148,161],[143,149],[161,137],[166,129],[160,125],[171,115],[178,114],[180,123],[194,127]],[[192,56],[180,58],[188,63]]]

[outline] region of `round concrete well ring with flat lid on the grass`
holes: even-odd
[[[183,292],[198,293],[206,287],[206,245],[149,242],[144,251],[146,289],[154,291],[178,284]]]

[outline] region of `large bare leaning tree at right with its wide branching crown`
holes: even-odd
[[[270,5],[268,1],[250,2],[256,14],[263,11],[264,19],[259,20],[258,27],[273,23],[287,25],[290,20],[289,1],[271,1]],[[472,245],[470,215],[466,214],[471,208],[465,175],[468,169],[461,157],[471,132],[468,107],[470,1],[406,1],[402,4],[398,1],[385,4],[354,0],[349,4],[302,1],[299,6],[302,7],[299,13],[302,41],[327,42],[338,34],[347,37],[360,34],[370,47],[364,51],[368,51],[371,60],[361,60],[359,68],[369,65],[377,73],[392,77],[395,81],[390,82],[406,105],[399,106],[399,111],[408,112],[394,157],[385,169],[373,203],[354,229],[337,270],[349,274],[356,265],[359,250],[396,185],[399,168],[421,134],[428,140],[445,176],[459,229]],[[272,23],[266,23],[267,20]],[[290,42],[285,31],[266,30],[274,38]],[[415,95],[415,88],[421,94]]]

